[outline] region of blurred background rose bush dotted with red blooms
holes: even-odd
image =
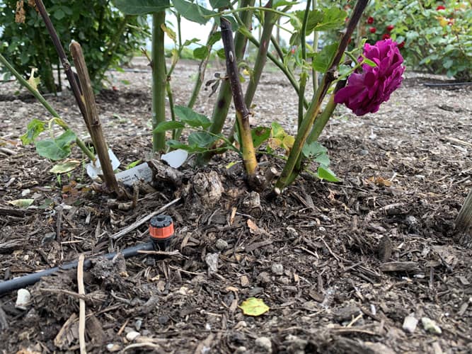
[[[374,1],[365,16],[362,35],[396,40],[410,68],[472,79],[471,1]]]

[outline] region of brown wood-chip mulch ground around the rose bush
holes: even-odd
[[[112,72],[115,90],[97,97],[122,166],[151,150],[150,72],[136,64]],[[191,62],[175,70],[176,104],[190,97],[195,72]],[[221,67],[207,79],[214,72]],[[226,154],[199,171],[181,168],[180,186],[156,182],[134,210],[93,192],[84,169],[49,173],[52,162],[19,141],[46,111],[16,84],[0,84],[0,277],[141,244],[146,223],[111,237],[180,195],[165,211],[175,222],[168,254],[98,259],[86,270],[90,353],[472,353],[472,250],[453,239],[472,187],[472,86],[406,76],[379,113],[357,118],[339,108],[323,133],[340,183],[306,174],[267,200],[251,194],[240,164],[226,169],[235,161]],[[208,94],[195,110],[211,115],[216,95]],[[68,91],[48,100],[85,131]],[[254,125],[277,121],[293,132],[297,100],[279,73],[263,74],[254,103]],[[72,157],[83,159],[76,148]],[[192,183],[215,172],[224,191],[213,203]],[[35,202],[27,210],[8,203],[19,198]],[[78,351],[76,278],[76,270],[42,278],[27,287],[24,309],[16,291],[0,295],[0,352]],[[250,297],[270,310],[243,314],[238,305]],[[413,333],[403,329],[407,316],[419,321]]]

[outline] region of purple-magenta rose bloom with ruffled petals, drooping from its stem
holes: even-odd
[[[335,103],[344,103],[355,115],[376,113],[381,103],[388,101],[398,89],[405,71],[403,57],[397,43],[391,39],[379,40],[375,45],[364,45],[364,56],[376,67],[362,64],[362,72],[354,72],[347,79],[347,85],[334,97]],[[362,57],[359,57],[359,62]]]

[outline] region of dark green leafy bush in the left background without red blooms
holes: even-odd
[[[144,43],[146,18],[125,16],[109,0],[45,0],[44,4],[67,55],[71,40],[81,44],[96,89],[101,88],[109,67],[131,57]],[[25,76],[31,67],[37,67],[40,89],[54,92],[57,80],[53,72],[59,58],[39,13],[28,1],[24,8],[25,23],[16,23],[16,0],[0,1],[0,26],[4,28],[0,52]]]

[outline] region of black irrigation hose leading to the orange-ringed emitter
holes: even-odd
[[[122,253],[123,256],[125,256],[125,258],[128,258],[128,257],[137,256],[139,254],[139,251],[153,251],[153,250],[154,250],[154,243],[152,241],[149,241],[149,242],[146,242],[146,244],[139,244],[137,246],[129,247],[129,249],[124,249],[120,251],[120,253]],[[111,260],[117,255],[117,253],[118,252],[108,253],[100,257]],[[7,292],[11,292],[13,290],[20,289],[28,285],[33,285],[35,284],[35,282],[38,282],[42,277],[57,273],[59,270],[69,270],[69,269],[77,268],[77,263],[79,263],[79,261],[74,261],[71,263],[60,265],[59,267],[42,270],[38,273],[23,275],[22,277],[6,280],[5,282],[0,282],[0,295],[6,294]],[[84,262],[84,269],[90,268],[91,265],[92,265],[91,258],[86,259]]]

